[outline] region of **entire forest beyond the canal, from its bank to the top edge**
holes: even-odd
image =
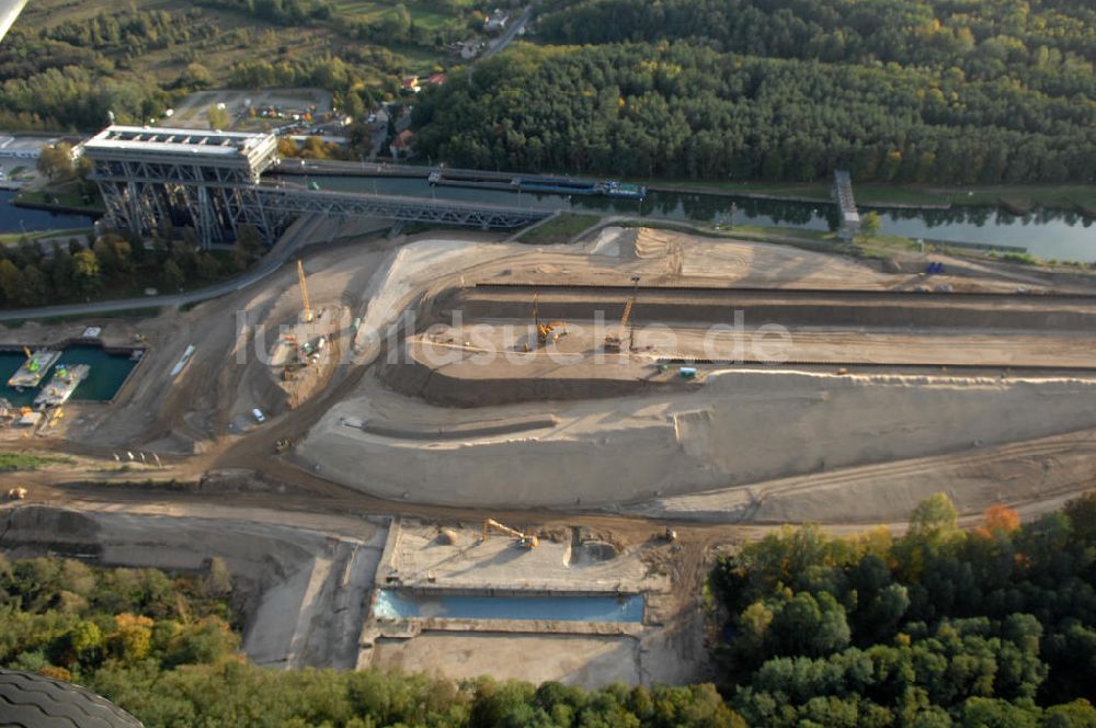
[[[697,180],[1091,182],[1077,0],[555,0],[420,100],[453,164]]]

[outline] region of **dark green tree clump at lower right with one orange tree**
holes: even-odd
[[[1089,494],[964,532],[937,494],[900,538],[744,546],[711,577],[730,705],[773,727],[1096,725],[1094,516]]]

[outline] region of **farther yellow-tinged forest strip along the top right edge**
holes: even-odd
[[[1096,90],[1096,8],[1075,0],[555,0],[553,43],[692,39],[753,56],[898,64],[1013,78],[1053,96]]]

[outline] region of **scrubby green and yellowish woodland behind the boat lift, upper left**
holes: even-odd
[[[364,20],[330,0],[88,3],[102,7],[93,14],[73,4],[32,3],[0,44],[0,127],[90,132],[107,112],[144,124],[194,91],[226,86],[319,87],[357,117],[396,95],[403,73],[432,71],[446,43],[481,23],[445,0],[427,3],[445,19],[429,33],[413,2]]]

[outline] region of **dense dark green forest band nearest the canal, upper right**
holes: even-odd
[[[454,166],[705,180],[1091,182],[1096,101],[1011,78],[720,53],[520,45],[420,94]]]

